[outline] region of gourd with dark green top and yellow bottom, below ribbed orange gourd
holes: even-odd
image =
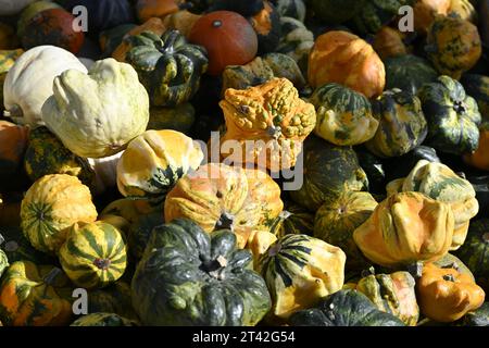
[[[310,99],[316,109],[314,133],[339,146],[359,145],[372,139],[378,121],[365,96],[338,84],[318,87]]]

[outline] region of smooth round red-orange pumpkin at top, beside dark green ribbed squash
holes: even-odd
[[[243,65],[258,52],[258,37],[240,14],[215,11],[201,16],[190,30],[191,44],[203,46],[209,54],[208,74],[217,76],[227,65]]]

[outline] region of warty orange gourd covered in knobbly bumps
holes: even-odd
[[[287,78],[246,90],[229,88],[220,105],[226,121],[222,157],[234,163],[256,163],[272,172],[296,164],[302,141],[316,124],[314,105],[299,98]],[[224,144],[227,140],[233,142]],[[252,146],[247,141],[253,141]]]

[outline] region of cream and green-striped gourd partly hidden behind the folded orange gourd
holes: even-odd
[[[408,177],[398,182],[398,191],[418,191],[440,202],[450,204],[455,225],[450,250],[459,249],[465,240],[469,220],[477,215],[479,203],[472,184],[442,163],[421,160]],[[390,191],[394,190],[391,186]]]

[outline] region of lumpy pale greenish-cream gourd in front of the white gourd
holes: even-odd
[[[136,71],[114,59],[96,62],[88,75],[62,73],[53,91],[42,107],[43,120],[80,157],[115,154],[148,125],[148,92]]]

